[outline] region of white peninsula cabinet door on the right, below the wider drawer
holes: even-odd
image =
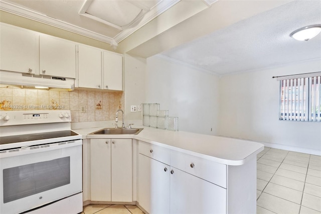
[[[226,189],[171,167],[171,213],[226,213]]]

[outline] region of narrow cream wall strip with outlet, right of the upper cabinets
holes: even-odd
[[[140,105],[145,100],[145,72],[146,59],[124,55],[125,122],[140,120],[135,126],[141,125],[141,112],[130,112],[130,105]]]

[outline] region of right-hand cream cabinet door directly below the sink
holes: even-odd
[[[131,139],[112,139],[111,201],[132,201]]]

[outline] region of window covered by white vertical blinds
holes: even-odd
[[[321,72],[281,76],[279,120],[321,122]]]

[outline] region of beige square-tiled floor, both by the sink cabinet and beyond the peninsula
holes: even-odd
[[[265,147],[257,155],[257,214],[321,214],[321,156]],[[143,214],[135,205],[91,204],[82,214]]]

